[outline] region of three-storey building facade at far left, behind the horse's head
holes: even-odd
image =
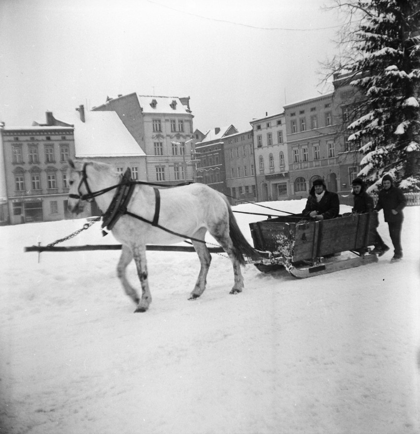
[[[66,182],[67,160],[75,154],[73,129],[5,127],[1,134],[9,223],[71,218]]]

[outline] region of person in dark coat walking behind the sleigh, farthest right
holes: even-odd
[[[378,203],[375,209],[384,210],[385,222],[388,224],[389,236],[394,246],[394,257],[391,262],[402,259],[401,229],[404,220],[403,208],[407,201],[404,193],[393,185],[394,180],[391,175],[386,174],[382,178],[382,190],[378,194]]]

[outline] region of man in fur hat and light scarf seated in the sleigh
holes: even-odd
[[[315,179],[312,184],[302,215],[312,217],[315,220],[328,220],[337,217],[340,212],[338,194],[328,191],[324,181],[320,178]]]

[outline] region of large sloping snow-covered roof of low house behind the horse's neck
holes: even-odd
[[[140,157],[143,150],[114,111],[54,112],[58,121],[74,125],[76,157]]]

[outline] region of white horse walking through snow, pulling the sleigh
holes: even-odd
[[[78,214],[83,211],[85,201],[95,197],[98,207],[105,213],[115,194],[115,189],[109,187],[121,183],[122,175],[105,163],[69,160],[69,164],[69,210]],[[230,294],[242,292],[244,279],[240,266],[245,264],[243,255],[257,259],[258,253],[241,233],[226,197],[204,184],[163,188],[159,189],[159,193],[159,226],[189,237],[200,258],[200,273],[189,300],[200,297],[205,290],[211,261],[204,243],[207,231],[220,243],[232,261],[235,283]],[[137,184],[127,210],[152,222],[156,218],[157,201],[155,188]],[[126,294],[137,304],[135,311],[145,312],[152,300],[147,282],[146,244],[173,244],[182,238],[127,214],[118,219],[111,232],[122,244],[117,266],[118,277]],[[141,298],[126,278],[126,267],[133,258],[141,283]]]

